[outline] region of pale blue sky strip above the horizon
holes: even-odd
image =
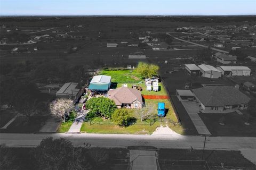
[[[0,0],[0,15],[255,15],[256,0]]]

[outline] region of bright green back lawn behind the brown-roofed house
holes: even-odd
[[[111,76],[111,82],[116,83],[143,82],[141,75],[135,70],[102,70],[99,74]]]

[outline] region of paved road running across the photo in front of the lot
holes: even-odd
[[[20,134],[1,133],[0,143],[12,147],[35,147],[46,137],[66,138],[75,146],[89,143],[92,147],[127,147],[154,146],[157,148],[202,149],[204,137],[183,135],[138,135],[138,134]],[[207,137],[206,149],[256,149],[256,138],[253,137]]]

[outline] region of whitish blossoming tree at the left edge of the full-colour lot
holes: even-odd
[[[74,104],[70,99],[57,99],[50,104],[51,113],[61,117],[62,122],[66,122],[66,117],[72,109],[74,109]]]

